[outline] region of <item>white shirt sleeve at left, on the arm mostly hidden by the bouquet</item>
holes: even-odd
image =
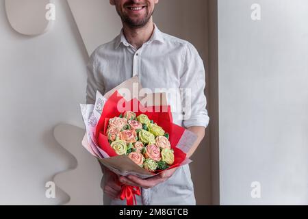
[[[86,103],[94,104],[97,96],[97,90],[100,92],[105,92],[103,81],[99,81],[98,64],[95,53],[92,53],[87,64],[87,75]]]

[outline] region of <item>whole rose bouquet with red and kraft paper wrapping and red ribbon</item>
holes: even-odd
[[[86,125],[82,145],[117,175],[146,179],[189,164],[186,153],[196,136],[172,123],[166,94],[139,96],[142,86],[138,81],[133,77],[104,96],[97,92],[94,105],[81,105]],[[125,97],[127,90],[134,93],[136,86],[138,94]],[[140,188],[122,185],[120,198],[126,199],[127,205],[136,203],[135,195],[140,195]]]

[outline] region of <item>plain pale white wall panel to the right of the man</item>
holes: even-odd
[[[218,0],[224,205],[308,204],[307,12],[306,0]]]

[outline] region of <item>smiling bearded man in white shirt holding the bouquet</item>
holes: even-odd
[[[123,29],[119,36],[103,44],[90,57],[87,103],[94,103],[97,90],[104,94],[133,76],[138,76],[142,87],[153,92],[155,88],[190,90],[190,118],[183,120],[185,114],[172,114],[174,123],[198,136],[188,153],[190,157],[204,138],[209,123],[205,109],[205,70],[192,44],[162,33],[153,23],[152,14],[158,1],[110,0],[122,20]],[[118,177],[104,168],[103,172],[103,190],[112,198],[112,205],[125,205],[125,201],[119,199],[120,183],[142,188],[142,196],[136,197],[138,205],[196,204],[188,165],[166,170],[151,179]]]

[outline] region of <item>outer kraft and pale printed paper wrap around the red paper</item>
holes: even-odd
[[[97,157],[103,166],[109,168],[116,174],[122,176],[136,175],[142,179],[146,179],[155,176],[155,174],[136,165],[126,155],[109,157],[105,151],[99,148],[94,138],[97,123],[101,116],[105,102],[115,91],[118,91],[118,93],[121,94],[126,101],[133,98],[138,99],[145,107],[168,105],[166,93],[142,94],[140,90],[142,90],[142,85],[139,82],[138,77],[132,77],[131,79],[121,83],[116,88],[106,92],[105,95],[102,95],[98,91],[94,105],[81,105],[81,114],[86,126],[86,134],[82,140],[82,145],[88,152],[94,155],[94,157]],[[126,96],[127,91],[129,91],[131,95]],[[195,141],[196,135],[191,131],[185,130],[176,147],[181,149],[184,153],[188,153]],[[189,164],[190,162],[190,159],[185,159],[181,165]]]

